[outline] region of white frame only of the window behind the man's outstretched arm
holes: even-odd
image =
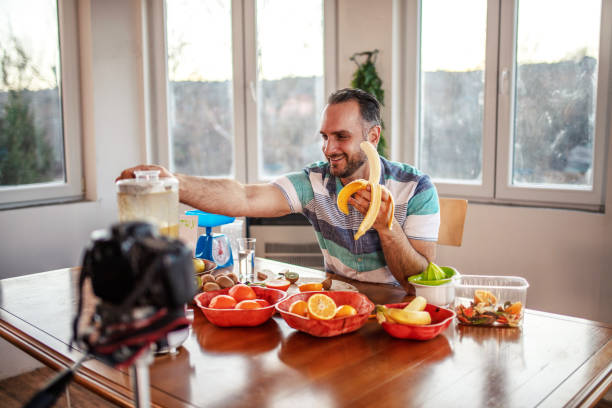
[[[258,177],[259,148],[256,105],[256,15],[254,0],[231,0],[233,47],[233,109],[234,109],[234,169],[233,178],[245,183],[266,182]],[[327,94],[336,87],[336,0],[324,0],[324,89]],[[165,1],[154,0],[150,5],[148,23],[152,75],[150,87],[155,119],[149,138],[154,144],[148,160],[172,166],[172,139],[168,127],[168,69]],[[163,39],[163,41],[162,41]],[[253,84],[253,89],[251,88]],[[153,115],[151,115],[153,116]]]

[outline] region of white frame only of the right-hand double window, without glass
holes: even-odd
[[[397,5],[398,27],[394,45],[401,49],[394,66],[395,83],[401,92],[392,123],[407,135],[407,141],[394,142],[399,150],[396,159],[419,167],[420,127],[420,27],[421,1],[405,0]],[[514,101],[514,50],[516,44],[517,0],[487,0],[487,34],[485,56],[485,95],[482,140],[482,184],[455,184],[434,179],[440,195],[468,198],[473,202],[526,205],[535,207],[603,211],[607,134],[610,131],[612,89],[612,4],[602,1],[598,60],[597,108],[593,156],[592,190],[518,187],[510,184],[512,165],[511,111]],[[410,28],[414,27],[414,28]],[[397,82],[396,82],[397,81]],[[398,116],[405,114],[405,119]],[[397,133],[396,133],[397,134]]]

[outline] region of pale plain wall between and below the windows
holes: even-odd
[[[80,2],[87,9],[88,1]],[[88,196],[93,201],[0,212],[0,277],[80,263],[92,230],[117,220],[114,178],[145,160],[138,1],[93,0],[81,40]],[[392,0],[338,0],[338,87],[349,86],[355,52],[378,48],[391,123]],[[87,38],[88,35],[91,38]],[[87,74],[87,72],[90,72]],[[612,114],[612,113],[611,113]],[[401,137],[389,135],[389,137]],[[608,157],[612,149],[608,147]],[[607,168],[608,206],[612,166]],[[463,274],[519,275],[528,307],[612,322],[612,215],[470,204],[464,244],[438,262]]]

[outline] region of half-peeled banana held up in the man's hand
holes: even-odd
[[[381,204],[381,196],[382,189],[385,189],[385,186],[379,184],[380,181],[380,158],[378,156],[378,152],[376,148],[370,144],[368,141],[363,141],[359,145],[361,150],[363,150],[368,157],[368,165],[370,167],[370,177],[368,180],[355,180],[344,186],[340,193],[338,194],[338,199],[336,200],[338,204],[338,208],[344,214],[349,213],[348,209],[348,199],[355,194],[359,190],[363,190],[368,185],[370,186],[370,193],[372,194],[372,199],[370,200],[370,207],[368,208],[368,212],[366,213],[361,225],[357,229],[355,233],[355,241],[357,241],[363,234],[366,233],[367,230],[372,228],[374,225],[374,221],[376,221],[376,217],[378,216],[378,212],[380,211]],[[387,192],[389,192],[387,190]],[[391,229],[391,225],[393,225],[393,211],[395,207],[395,203],[393,202],[393,196],[389,192],[389,197],[391,198],[391,212],[389,213],[389,220],[387,221],[387,225],[389,229]]]

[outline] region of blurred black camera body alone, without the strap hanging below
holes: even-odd
[[[94,294],[115,306],[131,300],[130,307],[182,307],[196,292],[189,249],[158,236],[148,223],[121,223],[110,235],[95,233],[83,268]]]

